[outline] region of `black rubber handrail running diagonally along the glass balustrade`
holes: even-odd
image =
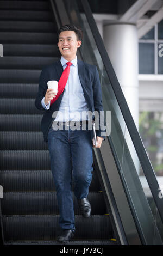
[[[137,131],[136,125],[135,125],[134,120],[133,120],[133,117],[130,113],[129,107],[128,107],[127,102],[126,102],[126,99],[123,95],[120,83],[118,82],[115,71],[114,71],[114,69],[112,67],[112,64],[110,62],[108,53],[106,52],[104,42],[101,38],[101,35],[99,34],[96,22],[93,18],[90,5],[87,2],[87,0],[82,0],[82,1],[80,0],[80,3],[82,4],[82,7],[84,9],[84,13],[86,15],[87,21],[88,21],[89,26],[91,28],[93,38],[95,39],[99,54],[101,55],[105,70],[108,74],[112,89],[114,90],[118,105],[120,106],[120,109],[121,109],[123,118],[126,122],[130,137],[133,141],[137,156],[139,158],[141,167],[143,169],[143,173],[146,176],[149,188],[151,189],[151,193],[153,195],[155,204],[158,208],[161,220],[163,222],[163,200],[161,200],[158,196],[158,194],[159,194],[159,184],[158,184],[158,181],[156,179],[152,164],[151,164],[151,162],[148,158],[146,149],[145,149],[145,147],[142,143],[139,132]]]

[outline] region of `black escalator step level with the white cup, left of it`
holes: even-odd
[[[4,98],[36,98],[38,83],[0,83],[0,94]]]

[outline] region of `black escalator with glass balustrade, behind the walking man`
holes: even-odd
[[[78,58],[98,68],[111,132],[93,150],[92,216],[83,218],[73,197],[76,233],[66,245],[162,245],[159,185],[87,1],[0,0],[0,14],[1,243],[60,245],[59,209],[40,129],[45,111],[34,101],[43,66],[60,58],[57,29],[74,23],[83,29]]]

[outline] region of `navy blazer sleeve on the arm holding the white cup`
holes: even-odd
[[[35,99],[35,106],[39,110],[47,111],[47,109],[43,108],[41,104],[41,100],[43,97],[45,97],[47,87],[47,81],[48,81],[48,71],[46,69],[42,69],[40,77],[39,77],[39,90],[36,95]]]

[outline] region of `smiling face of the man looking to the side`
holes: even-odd
[[[81,44],[82,41],[77,40],[77,36],[74,31],[63,31],[59,34],[59,51],[68,61],[71,61],[76,57],[77,48],[79,48]]]

